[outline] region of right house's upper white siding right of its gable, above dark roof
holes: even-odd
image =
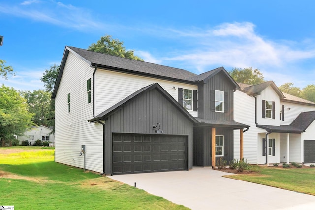
[[[315,106],[308,106],[308,105],[295,104],[295,103],[289,103],[289,102],[280,102],[280,105],[281,106],[284,105],[284,121],[280,121],[280,124],[282,124],[282,125],[291,124],[291,122],[301,112],[308,112],[308,111],[314,111],[315,110]],[[278,116],[279,116],[279,112],[278,112]],[[279,120],[279,117],[278,117],[278,120]]]

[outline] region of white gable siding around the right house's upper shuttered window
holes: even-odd
[[[275,119],[262,118],[262,100],[275,102]],[[257,95],[257,123],[260,125],[274,125],[279,126],[279,113],[280,113],[280,99],[279,95],[268,86],[265,90],[261,91],[260,95]]]

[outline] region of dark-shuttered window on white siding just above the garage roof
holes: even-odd
[[[197,111],[197,90],[178,88],[178,103],[186,110]]]

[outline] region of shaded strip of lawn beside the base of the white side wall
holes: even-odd
[[[56,163],[54,161],[28,163],[21,165],[0,164],[0,170],[28,177],[41,177],[47,180],[80,181],[99,177],[99,175],[83,172],[83,169]]]

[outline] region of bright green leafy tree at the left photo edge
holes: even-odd
[[[26,100],[13,88],[0,87],[0,141],[13,135],[23,135],[31,126],[33,114],[28,110]]]

